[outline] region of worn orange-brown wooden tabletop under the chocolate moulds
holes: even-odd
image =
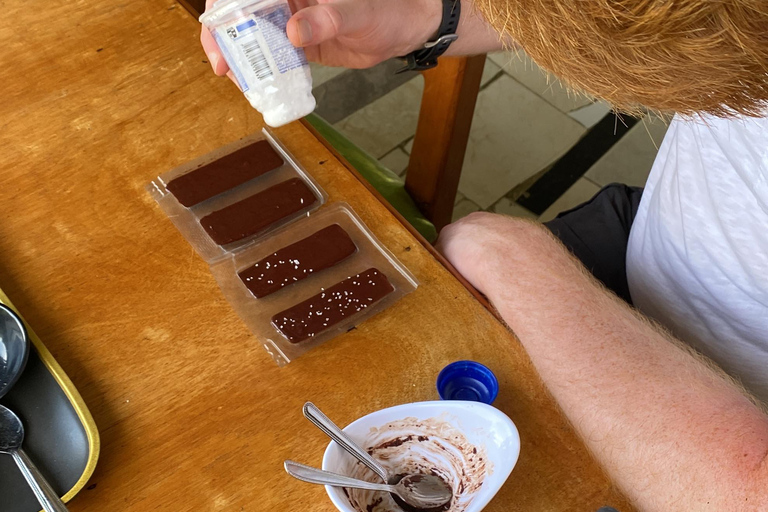
[[[628,504],[515,338],[303,125],[277,135],[421,281],[357,330],[278,368],[147,193],[167,169],[261,128],[172,0],[9,0],[0,25],[0,287],[79,388],[101,458],[79,511],[330,511],[281,462],[319,464],[312,400],[346,424],[437,397],[457,359],[498,375],[522,454],[488,511]]]

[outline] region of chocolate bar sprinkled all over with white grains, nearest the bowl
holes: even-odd
[[[394,291],[378,269],[349,277],[272,317],[274,325],[291,343],[312,338]]]

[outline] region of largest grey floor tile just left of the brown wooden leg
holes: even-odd
[[[334,126],[375,158],[416,133],[424,80],[415,77]]]

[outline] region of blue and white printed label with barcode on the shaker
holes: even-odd
[[[275,73],[285,73],[307,64],[304,52],[291,44],[285,32],[285,25],[291,17],[291,11],[285,4],[251,14],[226,27],[227,37],[239,47],[248,63],[248,69],[241,73],[256,80],[267,80]],[[219,46],[222,46],[221,44]],[[246,80],[235,77],[241,82],[243,92]]]

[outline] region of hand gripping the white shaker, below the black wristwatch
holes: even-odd
[[[367,68],[406,55],[430,40],[442,16],[440,0],[292,0],[288,38],[326,66]],[[206,9],[213,0],[207,0]],[[200,40],[217,75],[227,64],[203,27]]]

